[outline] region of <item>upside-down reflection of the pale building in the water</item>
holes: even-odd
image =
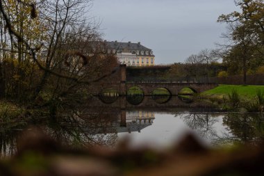
[[[142,129],[149,127],[153,124],[155,113],[145,111],[126,112],[126,126],[120,125],[117,133],[124,132],[140,132]],[[122,122],[121,122],[122,124]]]

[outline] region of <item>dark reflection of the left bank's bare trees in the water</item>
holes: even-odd
[[[69,147],[88,148],[94,145],[112,147],[117,142],[115,125],[119,124],[119,113],[74,113],[30,120],[28,124],[38,124],[35,126],[40,127],[44,133]],[[8,129],[1,127],[1,157],[12,156],[17,151],[17,138],[23,136],[16,129],[26,129],[26,125]]]

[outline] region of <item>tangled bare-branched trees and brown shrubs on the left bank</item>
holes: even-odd
[[[0,1],[0,12],[4,30],[13,40],[9,49],[11,60],[18,65],[31,65],[30,74],[19,70],[18,76],[10,72],[10,77],[20,79],[25,75],[26,87],[33,94],[31,99],[37,99],[47,88],[51,90],[51,99],[58,99],[66,92],[74,92],[81,83],[99,81],[113,73],[115,57],[104,53],[99,25],[89,21],[85,14],[90,0],[12,0],[15,8],[10,2]],[[35,26],[42,27],[34,30]],[[106,63],[109,67],[105,67]]]

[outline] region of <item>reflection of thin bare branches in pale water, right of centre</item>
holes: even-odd
[[[213,125],[218,121],[213,115],[208,113],[183,113],[180,114],[180,117],[186,125],[197,131],[201,138],[207,138],[211,141],[217,138],[217,131]]]

